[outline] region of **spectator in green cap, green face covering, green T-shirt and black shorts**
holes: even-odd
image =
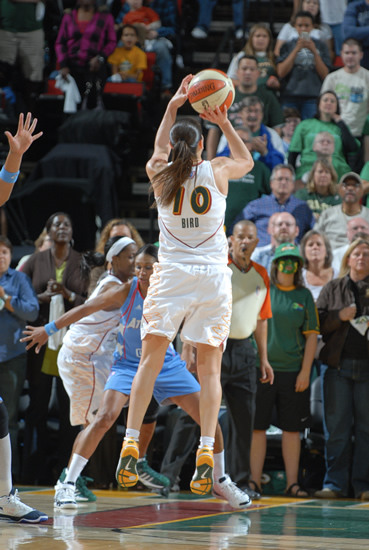
[[[266,456],[266,430],[277,408],[286,470],[286,495],[308,497],[298,480],[300,431],[310,421],[310,372],[317,346],[319,319],[311,292],[303,286],[302,257],[292,243],[275,251],[271,273],[272,319],[268,320],[268,359],[274,383],[258,382],[256,414],[251,445],[250,485],[259,492]]]

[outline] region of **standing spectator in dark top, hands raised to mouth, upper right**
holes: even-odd
[[[283,44],[277,59],[277,73],[283,79],[282,106],[298,109],[304,120],[316,113],[316,99],[331,62],[326,44],[312,38],[314,19],[311,13],[297,12],[294,26],[298,36]]]

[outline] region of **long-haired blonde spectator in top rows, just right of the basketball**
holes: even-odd
[[[276,76],[273,36],[268,24],[256,23],[251,27],[249,39],[243,50],[233,57],[228,67],[227,74],[232,80],[237,81],[238,62],[245,54],[253,55],[257,59],[260,70],[258,86],[265,84],[268,88],[278,90],[280,84]]]

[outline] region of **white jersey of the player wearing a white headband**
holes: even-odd
[[[99,282],[87,302],[96,298],[111,282],[123,284],[118,277],[109,274]],[[119,318],[120,309],[96,311],[70,326],[64,336],[63,346],[67,346],[73,353],[88,357],[106,354],[111,361],[117,342]]]

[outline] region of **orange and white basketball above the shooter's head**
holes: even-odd
[[[188,100],[198,113],[206,109],[229,109],[234,100],[232,80],[223,71],[204,69],[197,73],[188,86]]]

